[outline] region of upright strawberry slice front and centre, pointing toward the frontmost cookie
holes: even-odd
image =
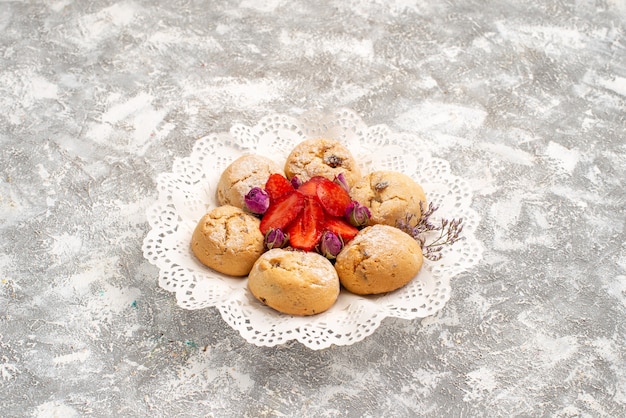
[[[289,242],[293,248],[311,251],[322,237],[324,209],[311,197],[304,197],[301,216],[288,228]]]

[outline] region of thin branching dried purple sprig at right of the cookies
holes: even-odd
[[[428,209],[424,211],[424,206],[420,202],[421,218],[415,222],[415,215],[410,213],[406,218],[397,223],[397,227],[411,235],[422,247],[424,257],[437,261],[441,259],[441,252],[446,245],[452,245],[459,241],[461,232],[463,231],[463,218],[459,219],[442,219],[438,223],[431,221],[431,216],[439,209],[431,202]],[[439,232],[439,236],[429,243],[426,243],[425,234],[429,232]]]

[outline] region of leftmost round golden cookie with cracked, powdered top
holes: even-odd
[[[261,221],[234,206],[219,206],[200,219],[191,249],[206,266],[231,276],[245,276],[263,253]]]

